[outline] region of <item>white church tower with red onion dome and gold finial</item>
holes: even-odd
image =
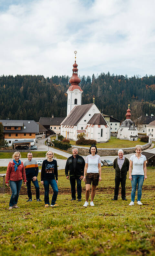
[[[71,86],[67,90],[67,115],[72,111],[72,109],[77,106],[81,105],[81,96],[83,90],[81,87],[78,85],[81,82],[81,79],[78,77],[78,64],[76,64],[76,54],[75,53],[75,63],[73,64],[73,74],[72,77],[69,79],[69,83]]]

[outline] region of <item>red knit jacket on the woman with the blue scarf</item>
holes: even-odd
[[[5,177],[5,183],[9,183],[9,180],[18,181],[18,180],[24,180],[26,181],[26,174],[23,162],[18,166],[18,169],[15,171],[13,160],[9,162],[7,171],[6,171],[6,177]]]

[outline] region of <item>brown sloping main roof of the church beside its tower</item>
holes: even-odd
[[[77,125],[92,106],[93,103],[75,106],[61,125]]]

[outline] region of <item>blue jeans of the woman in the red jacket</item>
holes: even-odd
[[[22,180],[18,180],[18,181],[10,180],[10,188],[12,190],[12,195],[10,198],[9,206],[14,206],[15,204],[17,204],[21,186],[22,186]]]

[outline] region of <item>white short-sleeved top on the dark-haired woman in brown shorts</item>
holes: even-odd
[[[101,157],[98,155],[88,155],[86,157],[86,164],[88,164],[87,173],[98,173],[98,164],[101,163]]]

